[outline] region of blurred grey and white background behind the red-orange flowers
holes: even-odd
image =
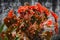
[[[36,2],[41,3],[59,16],[58,23],[60,24],[60,0],[0,0],[0,26],[3,24],[3,18],[7,15],[8,11],[14,9],[15,14],[17,14],[18,7],[23,5],[24,2],[29,2],[30,5],[34,5]]]

